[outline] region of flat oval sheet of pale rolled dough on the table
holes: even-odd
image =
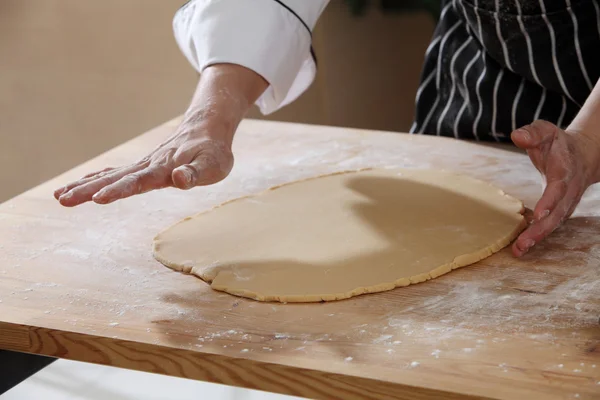
[[[521,201],[434,170],[378,169],[271,188],[154,239],[164,265],[260,301],[346,299],[436,278],[508,245]]]

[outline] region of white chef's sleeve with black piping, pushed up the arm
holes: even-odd
[[[329,0],[192,0],[175,14],[175,39],[202,72],[216,63],[242,65],[268,89],[256,104],[269,114],[313,82],[311,31]]]

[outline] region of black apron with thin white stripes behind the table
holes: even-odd
[[[509,141],[566,127],[600,76],[599,0],[444,0],[411,133]]]

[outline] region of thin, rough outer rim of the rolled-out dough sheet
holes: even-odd
[[[393,290],[395,288],[398,287],[404,287],[404,286],[409,286],[409,285],[414,285],[417,283],[422,283],[422,282],[426,282],[430,279],[434,279],[437,278],[439,276],[445,275],[455,269],[458,268],[462,268],[462,267],[466,267],[468,265],[474,264],[478,261],[483,260],[484,258],[487,258],[489,256],[491,256],[494,253],[497,253],[498,251],[502,250],[504,247],[508,246],[527,226],[527,221],[525,219],[525,216],[523,215],[524,211],[525,211],[525,207],[523,205],[523,202],[507,193],[505,193],[503,190],[501,190],[500,188],[482,181],[480,179],[476,179],[473,178],[469,175],[462,175],[462,174],[458,174],[456,172],[453,171],[448,171],[448,170],[444,170],[444,169],[439,169],[439,170],[435,170],[437,172],[442,172],[442,173],[446,173],[446,174],[453,174],[453,175],[457,175],[460,176],[461,178],[465,178],[465,179],[470,179],[473,180],[479,184],[484,184],[487,185],[493,189],[496,189],[499,191],[499,194],[502,196],[505,196],[507,198],[509,198],[511,201],[514,201],[515,203],[520,204],[520,209],[519,211],[516,213],[516,216],[520,219],[520,224],[514,229],[513,232],[511,232],[510,234],[500,238],[500,240],[498,240],[497,242],[493,243],[490,246],[486,246],[482,249],[479,249],[473,253],[469,253],[469,254],[463,254],[460,255],[456,258],[454,258],[454,260],[452,260],[452,262],[448,263],[448,264],[444,264],[441,265],[437,268],[435,268],[434,270],[427,272],[427,273],[423,273],[423,274],[419,274],[419,275],[414,275],[408,278],[401,278],[398,279],[394,282],[391,283],[385,283],[385,284],[379,284],[379,285],[373,285],[373,286],[367,286],[367,287],[359,287],[356,289],[353,289],[349,292],[342,292],[342,293],[335,293],[335,294],[328,294],[328,295],[289,295],[289,296],[266,296],[263,295],[261,293],[256,293],[256,292],[252,292],[249,290],[235,290],[235,289],[230,289],[224,286],[216,286],[213,284],[212,279],[209,279],[206,276],[203,276],[201,273],[196,273],[195,268],[194,267],[189,267],[189,266],[185,266],[185,265],[181,265],[181,264],[177,264],[174,262],[170,262],[169,260],[165,259],[164,257],[162,257],[159,253],[159,247],[160,247],[160,236],[168,231],[169,229],[171,229],[172,227],[181,224],[185,221],[188,221],[194,217],[197,217],[199,215],[203,215],[209,212],[212,212],[220,207],[223,207],[229,203],[232,203],[234,201],[240,201],[243,199],[247,199],[247,198],[252,198],[264,193],[268,193],[272,190],[276,190],[279,189],[281,187],[287,186],[287,185],[293,185],[296,183],[301,183],[301,182],[306,182],[306,181],[310,181],[313,179],[319,179],[319,178],[323,178],[323,177],[329,177],[329,176],[335,176],[335,175],[342,175],[342,174],[350,174],[350,173],[356,173],[356,172],[362,172],[362,171],[372,171],[372,170],[376,170],[376,169],[401,169],[401,167],[379,167],[379,168],[360,168],[360,169],[353,169],[353,170],[344,170],[344,171],[337,171],[337,172],[330,172],[330,173],[325,173],[325,174],[320,174],[320,175],[315,175],[312,177],[308,177],[308,178],[303,178],[303,179],[298,179],[298,180],[294,180],[294,181],[290,181],[290,182],[285,182],[279,185],[275,185],[275,186],[271,186],[263,191],[257,192],[257,193],[253,193],[253,194],[249,194],[246,196],[242,196],[242,197],[236,197],[230,200],[227,200],[223,203],[217,204],[214,207],[211,207],[209,209],[206,209],[204,211],[201,211],[199,213],[196,213],[192,216],[188,216],[174,224],[172,224],[171,226],[169,226],[168,228],[164,229],[161,233],[159,233],[158,235],[156,235],[154,237],[153,243],[152,243],[152,255],[153,257],[159,261],[161,264],[163,264],[164,266],[178,271],[178,272],[182,272],[184,274],[189,274],[189,275],[194,275],[200,279],[202,279],[203,281],[205,281],[206,283],[208,283],[210,285],[210,287],[213,290],[217,290],[220,292],[225,292],[225,293],[229,293],[233,296],[238,296],[238,297],[244,297],[244,298],[248,298],[248,299],[252,299],[252,300],[256,300],[256,301],[261,301],[261,302],[279,302],[279,303],[318,303],[318,302],[325,302],[325,301],[336,301],[336,300],[345,300],[345,299],[349,299],[351,297],[356,297],[356,296],[360,296],[363,294],[370,294],[370,293],[379,293],[379,292],[386,292],[386,291],[390,291]],[[404,168],[405,170],[411,170],[411,171],[432,171],[432,169],[421,169],[421,168]]]

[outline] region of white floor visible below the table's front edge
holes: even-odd
[[[0,400],[302,400],[259,392],[58,360],[0,396]]]

